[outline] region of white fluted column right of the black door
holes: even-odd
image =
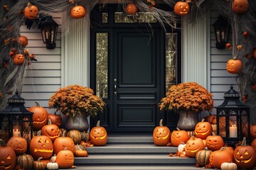
[[[195,81],[210,90],[210,17],[182,23],[181,80]]]

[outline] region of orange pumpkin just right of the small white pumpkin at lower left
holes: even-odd
[[[67,148],[58,152],[55,162],[58,164],[60,169],[71,168],[74,164],[74,154]]]

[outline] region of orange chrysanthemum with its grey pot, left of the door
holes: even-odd
[[[65,115],[65,129],[87,131],[87,116],[95,117],[97,113],[102,113],[105,103],[94,95],[92,89],[70,85],[56,91],[50,97],[48,106]]]

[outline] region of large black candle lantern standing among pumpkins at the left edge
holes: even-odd
[[[9,98],[8,106],[0,112],[0,139],[4,142],[13,136],[29,141],[33,137],[33,113],[24,107],[24,98],[16,94]]]

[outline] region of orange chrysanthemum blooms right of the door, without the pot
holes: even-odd
[[[159,103],[160,111],[196,112],[213,110],[213,94],[196,82],[171,86]]]

